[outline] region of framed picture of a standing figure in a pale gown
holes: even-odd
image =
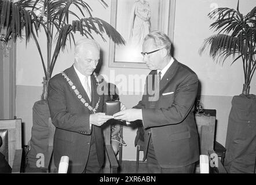
[[[111,25],[126,40],[109,44],[109,67],[145,68],[142,43],[150,31],[162,31],[173,42],[175,0],[112,0]]]

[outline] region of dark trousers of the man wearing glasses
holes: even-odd
[[[147,154],[147,168],[148,173],[194,173],[195,162],[191,165],[182,166],[181,168],[162,168],[158,164],[158,160],[156,160],[153,142],[150,139]]]

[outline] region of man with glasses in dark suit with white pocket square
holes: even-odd
[[[151,72],[144,95],[133,109],[120,111],[114,117],[142,120],[144,160],[147,158],[150,173],[193,173],[199,160],[193,114],[198,77],[175,60],[170,49],[171,41],[162,32],[151,32],[145,37],[141,54]]]

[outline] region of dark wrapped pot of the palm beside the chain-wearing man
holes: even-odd
[[[27,160],[31,168],[45,168],[44,157],[49,145],[50,110],[47,101],[37,101],[33,106],[33,125],[31,130],[30,151]]]

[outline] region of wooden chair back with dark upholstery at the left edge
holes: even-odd
[[[13,168],[16,150],[21,150],[21,119],[0,120],[0,135],[3,145],[1,153],[5,155],[6,161]]]

